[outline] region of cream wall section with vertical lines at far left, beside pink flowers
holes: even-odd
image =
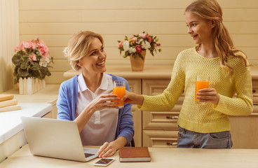
[[[18,0],[0,1],[0,93],[13,88],[15,45],[19,43]]]

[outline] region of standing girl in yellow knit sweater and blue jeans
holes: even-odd
[[[233,47],[215,0],[198,0],[184,12],[187,33],[197,44],[177,56],[168,87],[157,96],[127,92],[123,99],[143,111],[168,111],[184,90],[179,113],[178,148],[231,148],[229,116],[252,113],[252,79],[247,57]],[[196,76],[209,76],[210,88],[198,90]],[[236,97],[233,97],[237,94]],[[122,99],[122,100],[123,100]]]

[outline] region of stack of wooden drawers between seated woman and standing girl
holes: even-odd
[[[142,79],[142,94],[161,94],[170,79]],[[142,111],[142,145],[152,147],[177,147],[177,119],[184,94],[170,111]]]

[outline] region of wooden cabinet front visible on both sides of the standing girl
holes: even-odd
[[[161,94],[169,79],[142,79],[142,94]],[[258,148],[258,80],[252,80],[254,111],[250,116],[229,116],[232,148]],[[142,111],[142,146],[176,147],[177,118],[184,94],[170,111]]]

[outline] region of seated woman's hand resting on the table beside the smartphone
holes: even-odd
[[[97,157],[99,158],[107,158],[116,153],[119,146],[117,146],[114,141],[111,143],[105,142],[102,146],[100,146],[100,150],[97,152]]]

